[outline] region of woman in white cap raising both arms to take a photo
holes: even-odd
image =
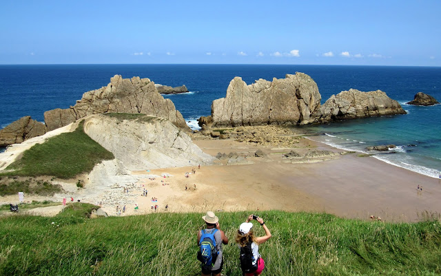
[[[240,224],[239,229],[236,234],[236,243],[239,244],[240,247],[245,247],[247,244],[251,242],[251,249],[253,253],[253,261],[252,264],[257,264],[257,269],[253,273],[245,273],[245,275],[260,275],[262,273],[263,268],[265,268],[265,262],[259,254],[259,245],[263,244],[271,237],[271,232],[269,232],[268,227],[265,225],[262,217],[256,217],[260,225],[265,230],[265,235],[262,237],[255,237],[252,231],[253,224],[249,222],[253,220],[253,215],[249,215],[246,222]]]

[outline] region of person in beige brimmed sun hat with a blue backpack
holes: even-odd
[[[214,262],[213,266],[205,266],[205,264],[201,264],[202,276],[220,276],[220,271],[222,271],[223,267],[222,244],[228,244],[228,238],[225,233],[220,230],[219,218],[216,217],[216,215],[214,215],[212,211],[208,211],[207,214],[202,217],[202,219],[207,225],[207,228],[204,229],[204,232],[214,232],[214,240],[216,241],[216,250],[218,252],[218,257],[216,258],[216,262]],[[198,246],[201,246],[202,234],[202,231],[198,231]]]

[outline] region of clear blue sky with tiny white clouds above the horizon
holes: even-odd
[[[0,64],[441,66],[441,1],[3,1]]]

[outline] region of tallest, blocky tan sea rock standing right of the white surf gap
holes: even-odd
[[[252,85],[236,77],[225,98],[213,101],[212,125],[307,124],[320,99],[316,82],[307,74],[287,74],[272,82],[259,79]]]

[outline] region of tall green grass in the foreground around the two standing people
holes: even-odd
[[[70,208],[57,217],[2,217],[0,275],[201,275],[196,232],[204,225],[202,213],[90,220],[83,209],[93,206]],[[241,275],[234,233],[247,214],[216,214],[230,240],[223,275]],[[441,275],[436,220],[389,224],[327,214],[258,214],[273,234],[260,246],[263,275]],[[256,222],[254,228],[263,235]]]

